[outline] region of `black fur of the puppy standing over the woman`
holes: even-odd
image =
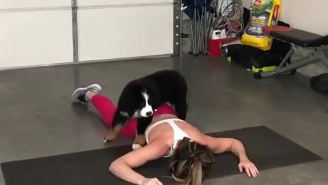
[[[179,119],[187,114],[187,83],[174,70],[163,70],[135,79],[124,87],[118,101],[118,109],[112,127],[122,127],[127,121],[137,118],[137,135],[143,135],[152,116],[142,117],[139,112],[145,106],[143,92],[148,94],[148,104],[154,112],[163,103],[171,103]]]

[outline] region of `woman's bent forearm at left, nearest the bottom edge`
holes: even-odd
[[[131,169],[131,167],[128,167],[128,165],[123,164],[119,161],[113,162],[109,167],[109,171],[111,171],[111,173],[121,178],[122,180],[130,182],[132,184],[141,185],[141,183],[145,180],[145,177],[133,171],[133,169]]]

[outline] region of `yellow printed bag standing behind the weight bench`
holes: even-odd
[[[265,36],[262,27],[277,25],[281,9],[280,0],[252,0],[251,18],[241,43],[264,51],[271,49],[273,38]]]

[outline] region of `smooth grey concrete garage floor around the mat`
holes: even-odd
[[[186,56],[182,62],[158,58],[0,71],[1,162],[107,147],[101,142],[107,127],[94,108],[90,112],[71,105],[72,90],[96,82],[116,102],[126,82],[161,69],[181,70],[187,78],[187,119],[200,130],[267,125],[324,158],[260,171],[256,179],[234,175],[205,185],[328,184],[327,99],[310,89],[308,79],[295,75],[256,80],[239,66],[204,56]],[[120,138],[111,145],[129,143],[130,138]]]

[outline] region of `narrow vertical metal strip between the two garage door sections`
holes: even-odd
[[[72,0],[72,34],[73,34],[73,61],[79,62],[79,37],[77,28],[77,0]]]

